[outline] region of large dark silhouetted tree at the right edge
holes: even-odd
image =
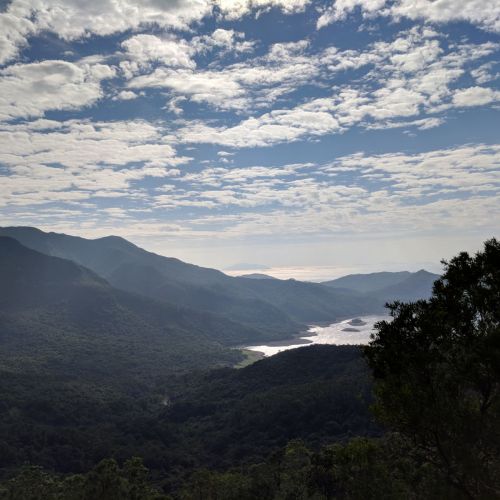
[[[500,497],[500,243],[443,262],[428,301],[389,305],[365,350],[378,417],[465,498]]]

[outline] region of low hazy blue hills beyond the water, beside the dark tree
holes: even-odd
[[[417,300],[430,296],[434,281],[439,275],[424,269],[409,271],[349,274],[322,284],[340,290],[372,294],[381,300]]]

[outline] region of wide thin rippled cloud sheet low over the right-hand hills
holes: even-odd
[[[198,211],[184,220],[189,238],[462,232],[491,228],[499,165],[500,145],[355,153],[322,165],[209,168],[181,175],[152,200],[155,210]]]

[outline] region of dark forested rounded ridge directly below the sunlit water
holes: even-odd
[[[380,433],[358,346],[283,351],[240,370],[186,377],[166,410],[204,464],[264,459],[291,439],[312,445]],[[237,444],[236,444],[237,443]]]

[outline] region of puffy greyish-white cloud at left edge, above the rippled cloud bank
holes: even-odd
[[[101,81],[115,76],[103,64],[45,60],[0,70],[0,120],[78,109],[103,96]]]

